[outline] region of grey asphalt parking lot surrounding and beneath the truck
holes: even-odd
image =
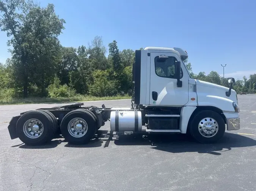
[[[109,122],[87,145],[11,140],[20,112],[63,104],[0,106],[0,190],[256,190],[256,95],[238,95],[241,129],[203,145],[184,135],[113,134]],[[130,100],[85,105],[130,106]]]

